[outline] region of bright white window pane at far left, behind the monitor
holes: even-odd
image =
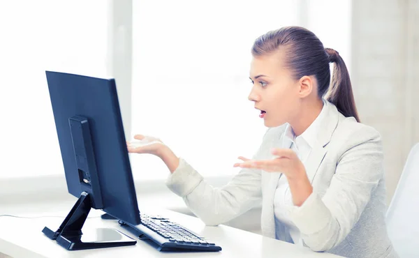
[[[1,1],[1,178],[64,176],[45,70],[105,76],[107,8],[101,0]]]

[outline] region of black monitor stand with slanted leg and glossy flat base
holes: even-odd
[[[117,229],[83,229],[84,222],[91,209],[91,201],[87,192],[82,192],[70,213],[56,232],[44,227],[43,233],[67,250],[84,250],[95,248],[111,248],[124,245],[135,245],[137,241],[126,236]]]

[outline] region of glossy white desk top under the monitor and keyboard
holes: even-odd
[[[10,218],[0,217],[0,252],[14,258],[19,257],[337,257],[326,253],[312,252],[308,248],[298,247],[272,238],[260,236],[233,227],[219,225],[205,227],[198,218],[168,210],[148,210],[164,215],[174,222],[204,236],[209,241],[220,245],[221,252],[159,252],[152,245],[137,239],[137,244],[119,248],[101,248],[95,250],[67,251],[44,236],[43,227],[57,230],[64,218]],[[60,215],[66,215],[66,212]],[[135,238],[120,227],[116,220],[102,220],[98,215],[102,211],[91,211],[83,228],[112,227]],[[27,215],[27,214],[26,214]],[[31,214],[48,215],[45,213]],[[27,215],[29,216],[29,215]]]

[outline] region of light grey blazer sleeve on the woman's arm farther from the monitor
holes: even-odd
[[[351,135],[355,144],[339,158],[323,198],[313,192],[302,206],[291,211],[291,219],[311,250],[327,251],[341,243],[383,179],[381,137],[372,128],[368,127],[367,132],[362,128]]]

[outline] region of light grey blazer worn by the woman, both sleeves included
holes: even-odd
[[[379,133],[346,118],[328,103],[316,146],[305,162],[314,192],[291,219],[304,245],[344,257],[397,257],[385,226],[383,150]],[[281,148],[286,125],[270,128],[253,158]],[[213,188],[185,160],[166,184],[206,225],[219,225],[262,203],[264,236],[292,243],[288,228],[275,225],[274,192],[280,172],[242,169],[223,188]]]

